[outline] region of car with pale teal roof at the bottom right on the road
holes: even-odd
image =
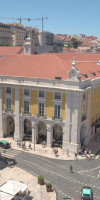
[[[93,200],[93,191],[90,187],[82,188],[81,200]]]

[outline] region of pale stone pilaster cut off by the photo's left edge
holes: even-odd
[[[2,87],[0,86],[0,137],[3,137]]]

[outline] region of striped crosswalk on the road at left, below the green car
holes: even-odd
[[[1,156],[7,158],[15,158],[21,151],[16,149],[2,149],[0,148]]]

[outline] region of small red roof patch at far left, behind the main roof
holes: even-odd
[[[1,47],[0,46],[0,56],[17,54],[21,48],[22,47]]]

